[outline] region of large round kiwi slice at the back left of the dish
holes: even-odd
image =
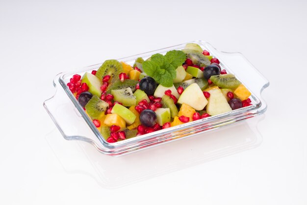
[[[119,81],[118,75],[123,73],[123,65],[118,60],[105,60],[96,72],[96,77],[102,79],[103,76],[111,76],[111,82]]]

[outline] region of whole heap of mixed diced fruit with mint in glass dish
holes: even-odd
[[[251,105],[251,92],[194,43],[133,66],[106,60],[67,86],[108,143]]]

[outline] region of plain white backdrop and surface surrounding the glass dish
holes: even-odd
[[[0,0],[0,204],[306,205],[306,10],[305,0]],[[59,72],[191,40],[256,66],[270,81],[264,116],[109,158],[65,141],[43,108]],[[253,136],[256,147],[205,154]]]

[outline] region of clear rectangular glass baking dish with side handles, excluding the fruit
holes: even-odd
[[[44,102],[44,107],[66,140],[88,142],[95,146],[100,152],[112,156],[127,154],[151,146],[191,137],[230,123],[255,117],[266,111],[267,105],[261,97],[261,92],[264,88],[269,86],[269,82],[241,53],[221,52],[204,41],[193,41],[188,43],[197,43],[203,49],[209,51],[212,56],[218,58],[222,69],[226,69],[228,73],[234,74],[238,80],[243,82],[252,92],[250,99],[253,105],[222,115],[207,117],[155,131],[128,140],[107,143],[66,86],[74,74],[77,73],[82,76],[85,72],[97,70],[102,64],[99,63],[74,71],[59,73],[53,81],[56,92],[53,97]],[[118,60],[125,61],[132,65],[134,60],[138,57],[147,59],[156,53],[165,54],[171,50],[181,50],[185,45],[186,43]]]

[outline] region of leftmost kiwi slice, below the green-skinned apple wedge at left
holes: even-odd
[[[86,112],[92,119],[102,117],[108,107],[109,104],[101,100],[97,95],[93,95],[85,105]]]

